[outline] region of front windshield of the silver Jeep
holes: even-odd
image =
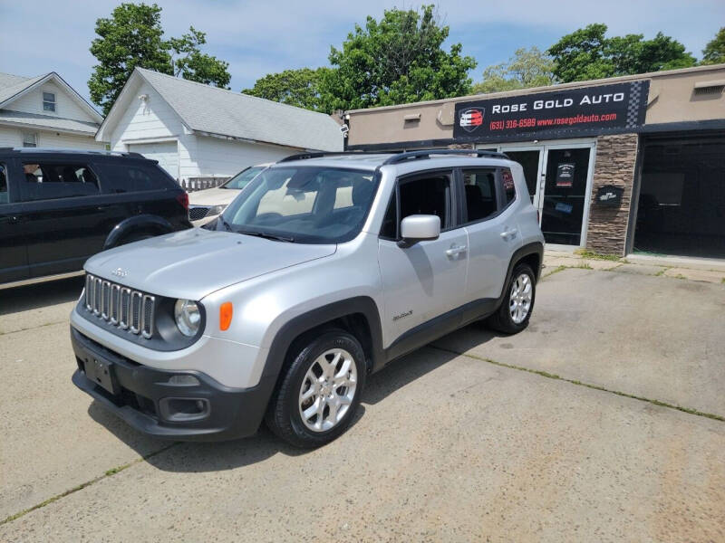
[[[247,185],[217,229],[295,243],[343,243],[362,228],[377,188],[371,171],[273,167]]]

